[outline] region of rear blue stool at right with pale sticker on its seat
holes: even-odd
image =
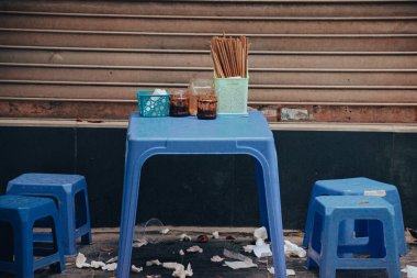
[[[407,254],[407,244],[405,241],[403,211],[398,190],[395,186],[383,184],[368,178],[351,178],[351,179],[330,179],[318,180],[313,187],[313,192],[309,198],[307,220],[305,223],[305,233],[303,245],[307,247],[308,236],[312,233],[313,224],[313,203],[316,197],[319,196],[364,196],[375,194],[380,196],[394,207],[395,211],[395,226],[398,236],[398,254]],[[353,231],[357,238],[363,237],[367,241],[368,236],[367,221],[350,221],[342,225],[339,231],[339,240],[349,242],[352,238]]]

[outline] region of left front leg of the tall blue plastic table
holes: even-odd
[[[128,146],[127,146],[128,147]],[[126,157],[125,177],[123,185],[122,223],[119,242],[117,278],[127,278],[131,273],[133,231],[135,229],[137,199],[142,166],[146,158],[135,160],[136,149]]]

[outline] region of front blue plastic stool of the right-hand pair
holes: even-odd
[[[401,277],[395,211],[387,201],[368,196],[322,196],[313,204],[313,215],[307,267],[318,265],[320,278],[336,277],[336,269],[379,268],[386,268],[390,278]],[[347,220],[373,222],[369,225],[367,244],[349,245],[339,242],[338,230]],[[369,257],[347,258],[342,253],[368,253]]]

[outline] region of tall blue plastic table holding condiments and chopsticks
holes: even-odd
[[[218,116],[202,121],[188,118],[131,115],[126,138],[122,223],[117,277],[128,277],[135,227],[140,169],[154,155],[246,154],[256,159],[262,225],[272,241],[275,277],[285,277],[280,182],[275,144],[261,112],[248,116]]]

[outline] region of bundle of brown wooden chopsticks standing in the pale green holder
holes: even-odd
[[[214,36],[211,42],[214,71],[217,78],[246,77],[248,71],[248,38]]]

